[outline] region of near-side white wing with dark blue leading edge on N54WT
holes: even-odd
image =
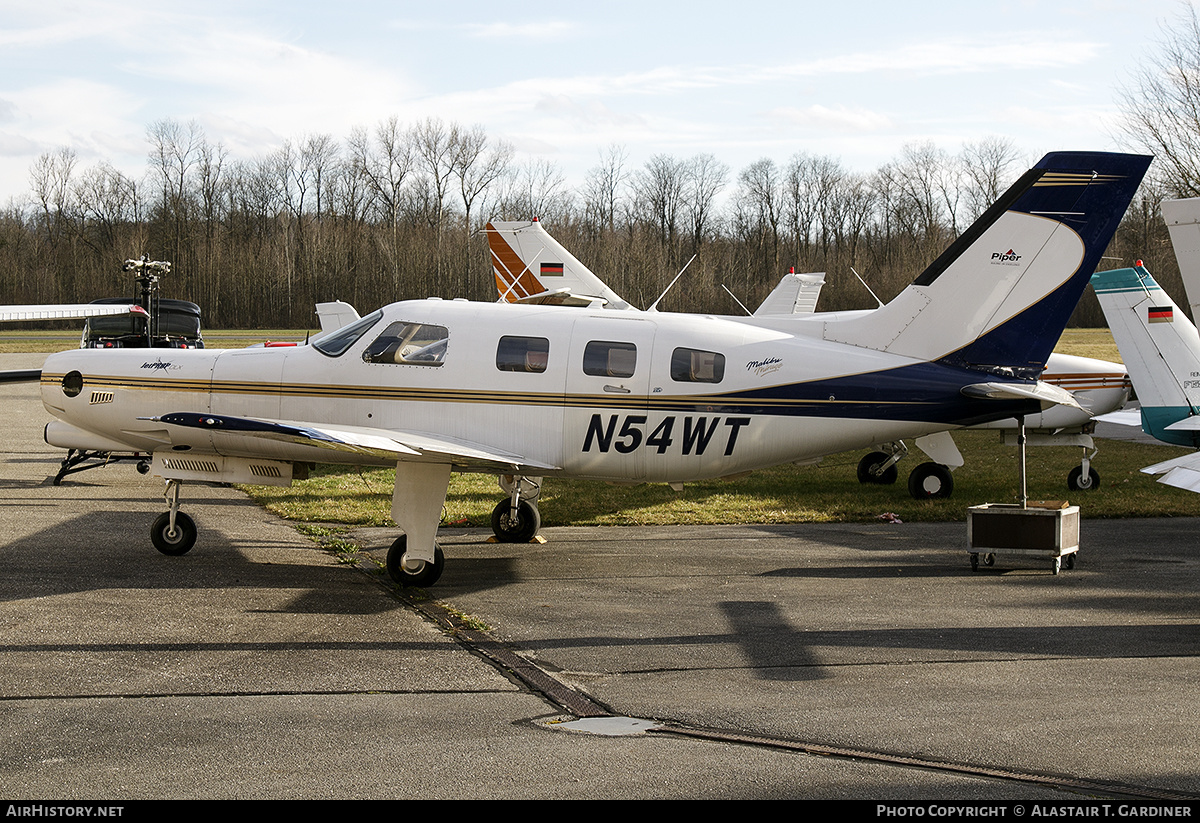
[[[329,451],[371,455],[394,461],[448,462],[462,468],[515,474],[529,474],[533,470],[551,471],[558,468],[484,444],[420,432],[229,417],[193,412],[174,412],[156,417],[156,420],[172,426],[220,432],[226,437],[283,440]]]

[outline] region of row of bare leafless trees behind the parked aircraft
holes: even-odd
[[[958,154],[906,145],[870,173],[805,152],[734,173],[710,154],[635,168],[614,145],[570,187],[556,164],[518,162],[481,127],[437,119],[305,136],[248,161],[197,124],[155,122],[146,144],[140,178],[82,167],[71,148],[36,160],[28,197],[0,211],[0,302],[132,294],[120,264],[142,254],[173,264],[164,296],[197,302],[210,328],[313,328],[326,300],[364,313],[431,295],[494,300],[484,226],[538,217],[635,306],[695,257],[662,310],[740,313],[737,301],[752,308],[790,268],[827,272],[822,311],[869,308],[871,292],[900,292],[1028,160],[989,138]],[[1104,268],[1145,259],[1178,294],[1157,209],[1172,193],[1165,178],[1145,184]],[[1074,322],[1104,325],[1094,299]]]

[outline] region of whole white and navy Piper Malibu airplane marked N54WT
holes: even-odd
[[[430,299],[293,348],[64,352],[42,371],[46,439],[152,452],[167,554],[196,541],[184,481],[395,464],[388,571],[430,585],[455,470],[512,475],[509,528],[528,539],[522,477],[679,483],[1073,403],[1037,378],[1150,161],[1046,155],[869,317]]]

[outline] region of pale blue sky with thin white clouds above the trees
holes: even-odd
[[[469,126],[578,186],[709,152],[870,172],[985,137],[1028,160],[1117,150],[1116,90],[1181,0],[0,0],[0,204],[42,152],[145,172],[146,128],[197,121],[235,158],[396,115]]]

